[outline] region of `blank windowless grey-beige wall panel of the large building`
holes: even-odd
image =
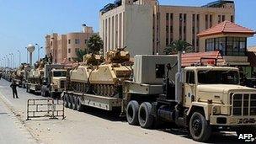
[[[152,54],[152,7],[125,6],[125,46],[131,56]]]

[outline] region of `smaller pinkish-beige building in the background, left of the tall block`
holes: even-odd
[[[52,56],[54,63],[61,63],[65,59],[73,61],[76,51],[86,49],[87,40],[95,33],[93,28],[83,26],[82,32],[58,35],[56,33],[45,36],[45,51],[47,56]]]

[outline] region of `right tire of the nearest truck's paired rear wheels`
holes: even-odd
[[[147,102],[142,103],[139,108],[138,117],[142,128],[152,128],[152,124],[154,122],[154,117],[152,115],[152,104]]]

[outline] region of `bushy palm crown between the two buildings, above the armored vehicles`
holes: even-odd
[[[87,42],[88,52],[90,53],[98,54],[103,49],[103,46],[103,40],[101,40],[99,35],[92,35]]]

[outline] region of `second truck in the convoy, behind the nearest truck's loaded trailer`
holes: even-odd
[[[46,64],[44,70],[41,95],[51,96],[51,98],[60,97],[65,88],[67,70],[59,64]]]

